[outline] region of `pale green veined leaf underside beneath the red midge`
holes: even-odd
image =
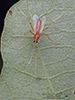
[[[33,43],[29,22],[34,14],[45,16],[47,27],[39,45]],[[3,71],[0,100],[73,100],[75,90],[75,6],[74,0],[21,0],[8,13],[1,37]],[[30,63],[30,64],[29,64]],[[27,68],[26,68],[27,67]]]

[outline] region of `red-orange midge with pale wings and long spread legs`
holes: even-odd
[[[34,35],[34,43],[38,43],[38,40],[40,39],[40,36],[47,36],[49,40],[55,42],[54,40],[52,40],[52,39],[49,38],[48,34],[41,34],[41,33],[42,33],[43,31],[45,31],[46,29],[48,29],[49,26],[50,26],[54,21],[56,21],[57,19],[59,19],[63,14],[61,14],[60,16],[58,16],[56,19],[54,19],[54,20],[48,25],[48,27],[46,27],[45,29],[43,29],[43,28],[44,28],[45,21],[46,21],[46,17],[45,17],[45,16],[43,16],[42,18],[39,19],[37,15],[34,15],[34,16],[33,16],[33,26],[32,26],[31,22],[29,21],[29,19],[27,18],[27,16],[23,13],[23,11],[22,11],[20,8],[18,8],[18,9],[19,9],[19,10],[22,12],[22,14],[26,17],[26,19],[28,20],[28,22],[29,22],[29,24],[30,24],[30,26],[31,26],[31,28],[32,28],[32,30],[33,30],[33,32],[34,32],[34,33],[33,33],[32,31],[28,31],[28,32],[26,32],[24,35],[26,35],[26,34],[29,33],[29,32],[30,32],[32,35]],[[22,35],[16,35],[16,36],[22,36]],[[56,43],[57,43],[57,42],[56,42]]]

